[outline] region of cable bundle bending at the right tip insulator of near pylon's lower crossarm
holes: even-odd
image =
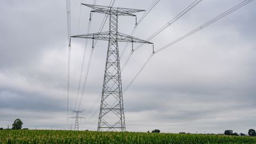
[[[197,31],[202,30],[203,28],[209,26],[210,24],[215,23],[216,21],[220,20],[221,18],[225,17],[226,15],[231,14],[232,12],[236,11],[237,9],[244,7],[245,5],[249,4],[249,2],[252,2],[254,0],[245,0],[241,3],[239,3],[238,5],[236,5],[235,7],[232,7],[231,9],[229,9],[228,11],[223,12],[222,14],[218,15],[217,17],[213,18],[212,20],[208,21],[207,23],[204,23],[203,25],[201,25],[200,27],[190,31],[189,33],[185,34],[184,36],[180,37],[177,40],[172,41],[171,43],[161,47],[160,49],[156,50],[155,53],[161,52],[162,50],[166,49],[169,46],[172,46],[175,43],[178,43],[179,41],[185,39],[188,36],[191,36],[192,34],[196,33]],[[124,92],[130,87],[130,85],[132,85],[132,83],[135,81],[135,79],[137,78],[137,76],[139,75],[140,72],[142,72],[143,68],[145,68],[146,64],[148,64],[149,60],[152,58],[152,56],[155,54],[152,53],[151,56],[149,56],[149,58],[146,60],[146,62],[143,64],[142,68],[140,68],[139,72],[137,72],[137,74],[135,75],[135,77],[132,79],[132,81],[129,83],[129,85],[127,85],[127,87],[125,88]]]

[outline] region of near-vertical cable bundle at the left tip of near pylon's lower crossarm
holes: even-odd
[[[68,81],[67,81],[67,129],[68,129],[68,112],[69,112],[69,82],[70,82],[70,63],[71,63],[71,2],[66,0],[67,26],[68,26]]]

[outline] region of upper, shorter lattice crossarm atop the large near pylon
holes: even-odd
[[[90,5],[90,4],[82,4],[89,8],[92,8],[91,12],[98,12],[101,14],[108,14],[108,15],[126,15],[126,16],[136,16],[135,12],[145,11],[142,9],[132,9],[132,8],[116,8],[116,7],[107,7],[102,5]]]

